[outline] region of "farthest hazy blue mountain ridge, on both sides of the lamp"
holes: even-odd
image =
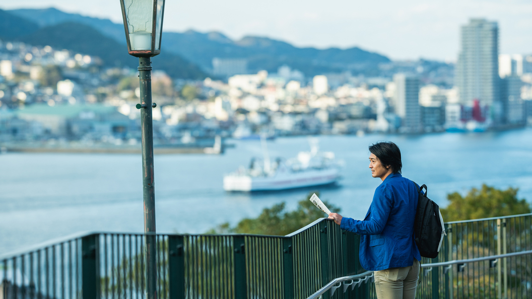
[[[110,20],[64,13],[53,8],[20,9],[9,12],[28,18],[41,26],[51,26],[65,21],[86,24],[98,30],[102,35],[120,44],[125,44],[123,25],[115,24]],[[375,72],[379,63],[390,62],[384,55],[364,51],[358,47],[348,49],[298,48],[285,41],[267,37],[246,36],[235,41],[220,32],[201,33],[194,30],[182,33],[163,32],[161,52],[164,55],[168,53],[180,55],[199,65],[204,71],[210,71],[212,59],[219,57],[246,59],[251,72],[263,69],[276,72],[281,65],[286,64],[304,72],[306,76],[346,70],[354,74],[368,74]]]

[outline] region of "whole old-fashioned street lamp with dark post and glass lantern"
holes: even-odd
[[[157,298],[155,237],[155,182],[153,168],[153,123],[151,57],[161,53],[164,0],[120,0],[130,55],[138,57],[140,80],[140,127],[142,130],[142,177],[144,197],[144,255],[146,297]]]

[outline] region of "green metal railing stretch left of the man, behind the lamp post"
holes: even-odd
[[[156,238],[159,298],[306,298],[336,277],[365,271],[359,236],[330,219],[288,236],[148,237]],[[0,299],[144,298],[144,238],[92,232],[0,257]],[[347,292],[363,298],[374,289],[363,283]]]

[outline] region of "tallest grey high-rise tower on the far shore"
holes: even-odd
[[[481,106],[489,107],[489,118],[499,123],[503,117],[500,84],[497,22],[471,19],[461,28],[461,49],[456,64],[460,103],[472,106],[478,99]]]

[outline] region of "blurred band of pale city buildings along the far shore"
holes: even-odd
[[[212,80],[154,71],[154,138],[185,143],[237,136],[237,131],[417,134],[465,130],[478,122],[485,129],[488,121],[495,123],[493,115],[497,126],[532,124],[532,56],[497,56],[497,30],[495,22],[485,20],[462,28],[459,88],[453,87],[454,64],[426,60],[381,64],[376,77],[352,72],[306,77],[288,65],[277,73],[250,74],[244,59],[213,60],[219,76]],[[0,141],[133,140],[140,136],[138,101],[136,70],[107,67],[97,57],[49,46],[0,42]],[[85,111],[91,105],[112,106],[117,113]]]

